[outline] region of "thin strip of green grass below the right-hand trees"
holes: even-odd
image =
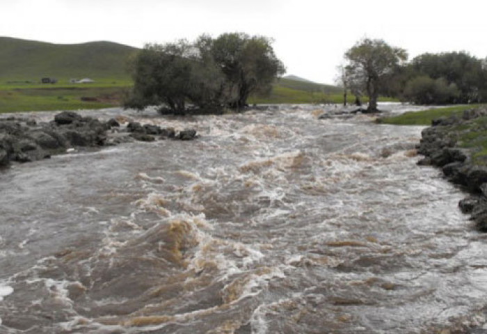
[[[431,120],[436,118],[461,115],[465,109],[477,108],[482,105],[484,104],[461,104],[424,111],[411,111],[399,116],[383,117],[378,122],[392,125],[431,125]]]

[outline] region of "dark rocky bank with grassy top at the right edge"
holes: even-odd
[[[487,109],[465,110],[461,117],[433,120],[422,131],[420,165],[442,168],[450,182],[470,193],[459,202],[465,214],[487,232]]]

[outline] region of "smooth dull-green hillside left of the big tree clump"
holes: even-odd
[[[61,45],[0,37],[0,84],[41,77],[129,80],[127,58],[137,50],[113,42]]]

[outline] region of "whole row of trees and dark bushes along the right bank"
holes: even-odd
[[[487,102],[487,63],[465,51],[421,54],[408,62],[406,50],[380,39],[359,40],[344,54],[337,83],[369,97],[367,111],[377,111],[378,95],[416,104]],[[346,103],[346,102],[344,102]]]

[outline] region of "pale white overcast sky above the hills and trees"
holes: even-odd
[[[363,37],[403,47],[410,58],[461,50],[485,58],[486,9],[481,0],[0,0],[0,35],[143,47],[246,32],[274,38],[287,74],[331,84],[344,51]]]

